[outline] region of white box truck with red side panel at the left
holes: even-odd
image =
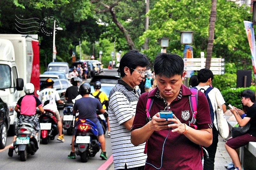
[[[25,95],[25,83],[33,83],[35,92],[40,90],[39,74],[38,36],[0,34],[0,97],[9,108],[11,135],[15,134],[18,120],[14,103]]]

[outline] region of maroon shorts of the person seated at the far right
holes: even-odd
[[[256,137],[252,136],[249,133],[246,133],[244,135],[241,135],[241,136],[238,136],[235,138],[229,138],[226,141],[226,145],[228,145],[229,147],[231,147],[233,149],[237,149],[241,146],[248,144],[249,142],[256,142]]]

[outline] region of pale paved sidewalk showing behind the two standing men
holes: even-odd
[[[223,138],[219,136],[219,142],[217,146],[217,152],[215,155],[215,163],[214,163],[214,170],[224,170],[226,169],[224,166],[225,164],[231,162],[231,158],[226,151],[225,148],[225,141]],[[114,170],[114,165],[112,164],[109,167],[109,170]]]

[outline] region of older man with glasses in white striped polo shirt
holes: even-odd
[[[143,170],[147,155],[145,143],[134,146],[131,143],[131,127],[135,116],[139,85],[145,75],[149,60],[137,50],[132,50],[120,60],[121,79],[109,94],[109,122],[114,169]]]

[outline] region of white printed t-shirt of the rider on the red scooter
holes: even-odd
[[[52,110],[53,112],[58,110],[56,101],[60,100],[60,96],[56,90],[51,88],[43,89],[40,91],[38,98],[42,104],[44,104],[46,100],[50,100],[50,103],[43,107],[44,109]]]

